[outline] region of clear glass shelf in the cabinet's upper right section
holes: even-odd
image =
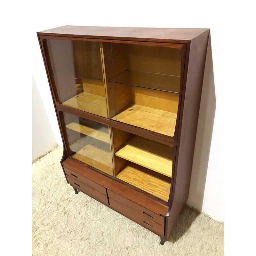
[[[180,76],[125,70],[109,82],[126,84],[164,92],[180,92]]]

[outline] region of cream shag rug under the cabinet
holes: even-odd
[[[188,206],[164,245],[160,238],[67,184],[55,147],[32,167],[33,255],[223,255],[224,223]]]

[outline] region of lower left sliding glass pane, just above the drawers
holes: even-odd
[[[63,115],[71,156],[113,176],[109,127],[67,113]]]

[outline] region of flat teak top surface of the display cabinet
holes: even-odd
[[[208,28],[128,28],[63,26],[37,32],[38,35],[146,42],[188,43]]]

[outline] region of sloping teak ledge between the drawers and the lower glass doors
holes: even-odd
[[[132,188],[131,186],[124,184],[121,181],[114,180],[111,177],[107,177],[104,174],[96,172],[84,164],[76,162],[75,160],[68,158],[62,164],[70,170],[74,170],[78,174],[100,184],[105,188],[110,189],[111,191],[121,196],[124,196],[129,200],[132,200],[137,204],[140,204],[148,210],[156,212],[159,215],[162,214],[166,216],[168,206],[164,204],[164,202],[160,199],[157,199],[154,196],[150,196],[136,188]]]

